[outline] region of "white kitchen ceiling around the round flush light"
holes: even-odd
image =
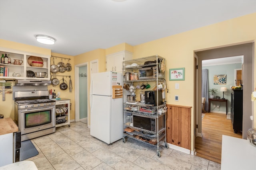
[[[256,12],[256,0],[0,0],[0,39],[78,55]],[[38,34],[56,39],[36,41]]]

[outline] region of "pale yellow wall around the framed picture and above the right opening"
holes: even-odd
[[[256,39],[256,13],[234,18],[232,20],[200,27],[162,39],[157,39],[140,45],[131,47],[123,43],[109,49],[97,49],[74,57],[74,65],[88,62],[90,70],[90,61],[98,59],[99,72],[105,71],[105,56],[111,53],[129,49],[133,52],[133,58],[147,57],[151,55],[160,55],[166,58],[166,81],[169,92],[166,94],[168,104],[183,106],[192,106],[191,137],[193,139],[194,124],[194,51],[213,49],[228,45],[254,42]],[[2,47],[2,43],[0,44]],[[26,46],[27,47],[27,46]],[[32,49],[34,50],[34,48]],[[39,49],[41,50],[41,49]],[[255,51],[255,47],[254,47]],[[255,53],[254,53],[255,58]],[[184,81],[169,81],[169,69],[185,67]],[[254,68],[256,61],[254,60]],[[254,87],[256,86],[256,70],[254,69]],[[88,74],[88,80],[90,75]],[[174,88],[175,83],[179,83],[180,88]],[[90,86],[88,86],[90,87]],[[88,91],[89,92],[89,91]],[[89,94],[89,93],[88,93]],[[179,96],[179,101],[174,100],[174,96]],[[89,101],[89,97],[88,97]],[[254,102],[254,117],[256,117],[256,104]],[[1,106],[1,105],[0,105]],[[2,105],[3,107],[3,105]],[[72,106],[73,107],[73,106]],[[74,107],[73,107],[74,108]],[[88,113],[90,121],[90,113]],[[88,122],[90,125],[90,122]],[[256,120],[254,119],[254,127]],[[191,150],[194,150],[194,141],[191,143]]]

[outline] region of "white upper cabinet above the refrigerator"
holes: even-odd
[[[128,51],[120,51],[106,55],[106,71],[122,72],[122,62],[131,59],[132,53]]]

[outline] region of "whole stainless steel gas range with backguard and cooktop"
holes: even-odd
[[[21,141],[55,132],[55,101],[48,90],[14,92],[14,119]]]

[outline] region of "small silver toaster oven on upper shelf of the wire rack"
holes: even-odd
[[[154,79],[157,77],[158,66],[139,69],[139,80]],[[158,78],[164,78],[164,75],[158,70]]]

